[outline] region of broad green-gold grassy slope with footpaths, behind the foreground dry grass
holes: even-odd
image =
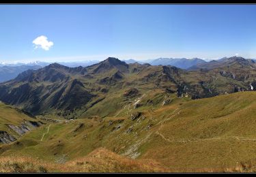
[[[127,157],[154,159],[171,172],[220,171],[256,159],[255,92],[191,101],[167,97],[173,101],[162,106],[165,96],[152,91],[141,99],[144,106],[126,106],[115,117],[53,124],[40,141],[48,128],[44,125],[24,135],[18,144],[1,146],[0,152],[55,163],[61,158],[71,162],[104,147]],[[159,103],[146,105],[150,98],[158,98]],[[130,114],[136,111],[145,118],[131,120]],[[127,133],[129,128],[132,131]]]

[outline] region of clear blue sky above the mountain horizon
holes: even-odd
[[[255,19],[256,5],[0,5],[0,61],[256,58]]]

